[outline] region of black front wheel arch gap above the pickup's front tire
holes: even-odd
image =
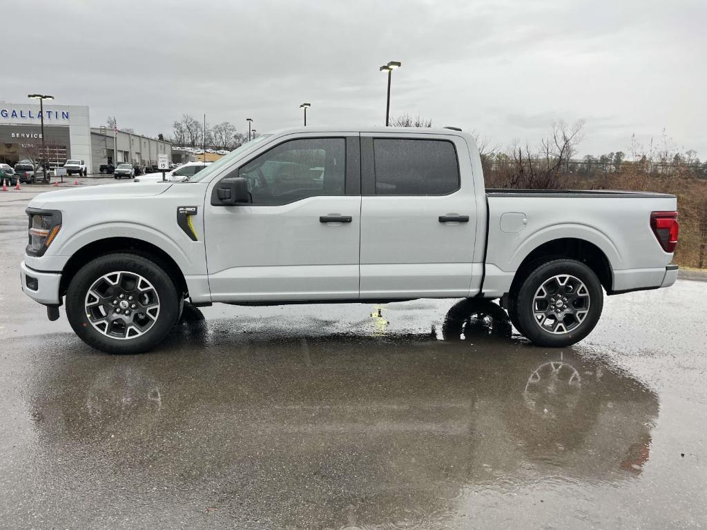
[[[173,279],[178,291],[185,294],[188,292],[187,280],[182,269],[173,257],[157,245],[134,237],[105,237],[84,245],[71,255],[69,261],[66,261],[64,269],[62,269],[62,280],[59,283],[59,296],[66,294],[71,279],[88,261],[98,256],[117,252],[129,252],[155,261]]]

